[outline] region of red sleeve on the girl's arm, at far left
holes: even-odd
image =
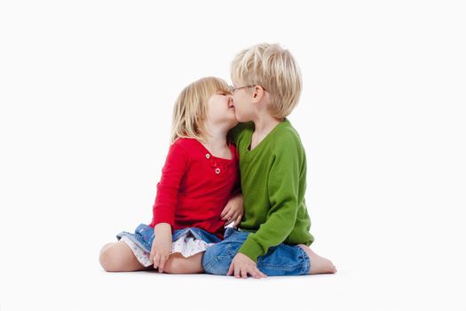
[[[152,226],[166,222],[175,226],[175,211],[178,203],[178,189],[188,163],[187,152],[180,141],[175,141],[162,168],[162,178],[157,184],[157,195],[153,207]]]

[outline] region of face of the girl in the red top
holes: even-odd
[[[207,102],[207,117],[212,124],[233,128],[238,121],[234,113],[233,101],[229,92],[217,92]]]

